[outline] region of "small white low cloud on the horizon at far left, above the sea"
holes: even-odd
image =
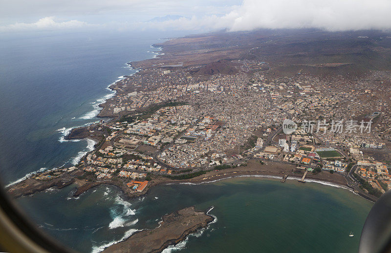
[[[54,17],[45,17],[39,19],[35,23],[15,23],[10,25],[0,26],[0,31],[26,31],[26,30],[60,30],[60,29],[75,29],[95,26],[83,21],[69,20],[64,22],[56,22]]]

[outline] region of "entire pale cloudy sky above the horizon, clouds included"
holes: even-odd
[[[391,30],[391,0],[0,0],[0,6],[0,33],[64,29]],[[154,19],[167,15],[171,18]]]

